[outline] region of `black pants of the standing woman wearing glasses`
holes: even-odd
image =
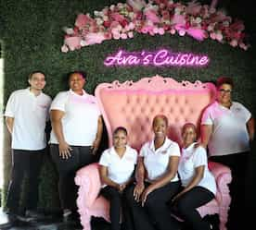
[[[229,185],[231,204],[228,212],[228,230],[239,230],[247,222],[245,220],[245,192],[249,152],[239,152],[224,156],[211,156],[210,161],[223,163],[231,169],[232,181]]]

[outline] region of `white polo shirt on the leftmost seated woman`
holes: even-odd
[[[134,165],[137,162],[137,151],[126,145],[126,151],[122,158],[114,147],[103,151],[99,164],[108,167],[109,179],[117,184],[127,182],[134,173]]]

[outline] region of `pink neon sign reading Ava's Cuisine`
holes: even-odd
[[[204,67],[208,65],[210,59],[207,55],[192,53],[173,53],[162,49],[156,52],[125,52],[109,55],[104,65],[112,66],[155,66],[155,67]]]

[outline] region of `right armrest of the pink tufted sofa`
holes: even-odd
[[[222,163],[208,163],[212,175],[215,177],[217,185],[216,200],[218,203],[224,202],[228,198],[230,200],[228,184],[232,180],[231,170]]]

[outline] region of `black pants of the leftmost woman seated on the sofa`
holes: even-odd
[[[122,223],[125,224],[125,230],[133,230],[133,221],[131,217],[131,212],[127,206],[127,202],[124,199],[124,194],[127,191],[127,188],[120,193],[116,188],[105,187],[102,188],[100,194],[105,197],[110,202],[110,221],[111,221],[111,230],[120,230],[120,218],[122,211]]]

